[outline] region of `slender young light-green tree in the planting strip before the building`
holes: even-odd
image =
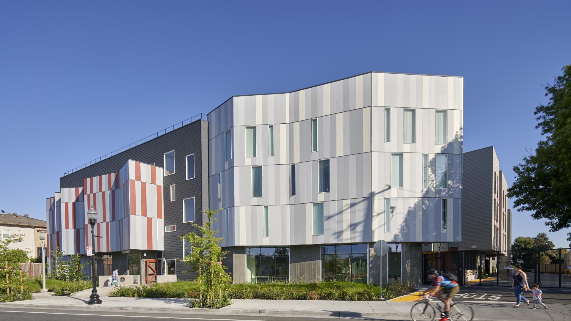
[[[198,274],[196,281],[199,282],[200,307],[211,307],[215,301],[220,302],[227,284],[232,282],[230,275],[224,271],[226,267],[221,264],[224,255],[228,253],[220,248],[219,244],[222,244],[223,238],[215,238],[214,235],[218,231],[211,229],[212,223],[216,222],[212,216],[218,211],[220,210],[211,211],[210,208],[202,211],[208,218],[208,221],[203,224],[204,226],[191,223],[192,226],[198,228],[202,236],[190,232],[180,238],[186,240],[187,244],[191,244],[190,254],[187,254],[180,262],[186,266],[190,265],[192,268],[192,271],[185,271],[185,273],[195,272]]]

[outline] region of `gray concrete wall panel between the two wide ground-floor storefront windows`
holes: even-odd
[[[321,280],[321,246],[289,246],[289,280],[291,282],[319,282]]]

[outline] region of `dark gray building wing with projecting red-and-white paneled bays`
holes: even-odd
[[[66,172],[59,192],[46,199],[49,250],[86,254],[98,212],[98,275],[176,275],[188,267],[176,259],[190,251],[180,236],[198,230],[208,207],[208,123],[198,115],[97,161]],[[204,166],[203,166],[204,164]],[[84,258],[85,261],[90,258]],[[149,272],[150,273],[147,273]],[[172,279],[172,278],[171,278]]]

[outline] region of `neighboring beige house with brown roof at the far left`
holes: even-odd
[[[0,214],[0,238],[22,234],[22,242],[11,244],[11,248],[27,251],[30,258],[42,256],[42,241],[46,240],[46,221],[17,213]]]

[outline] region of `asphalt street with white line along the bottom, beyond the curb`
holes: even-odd
[[[51,308],[13,308],[0,306],[0,321],[309,321],[340,319],[336,316],[270,316],[270,315],[230,315],[212,313],[169,313],[169,312],[126,312],[126,311],[85,311]],[[347,318],[355,320],[403,321],[399,318]]]

